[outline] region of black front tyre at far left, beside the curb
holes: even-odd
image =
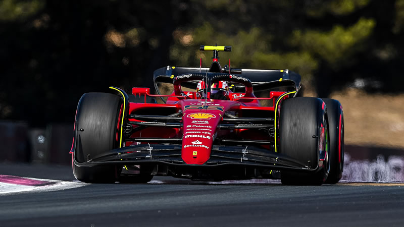
[[[110,93],[85,93],[76,113],[74,159],[86,162],[97,155],[119,148],[119,116],[122,99]],[[115,165],[78,166],[73,162],[74,177],[87,183],[114,183],[121,168]]]

